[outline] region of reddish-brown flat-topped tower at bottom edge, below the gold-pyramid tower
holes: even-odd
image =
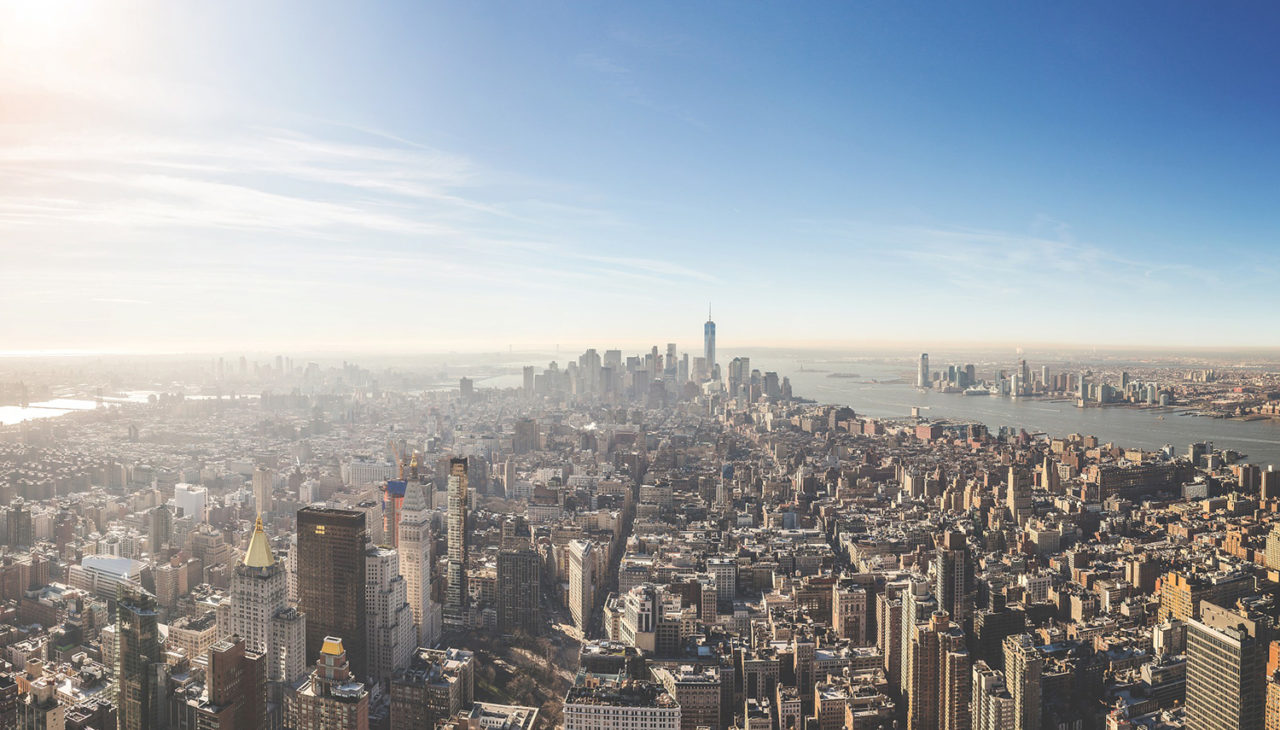
[[[266,657],[248,651],[239,637],[209,649],[209,701],[197,708],[193,727],[238,730],[266,727]]]

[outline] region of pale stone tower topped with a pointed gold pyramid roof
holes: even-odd
[[[288,576],[271,555],[261,517],[244,560],[232,574],[230,602],[229,633],[241,637],[248,652],[266,657],[268,681],[302,679],[307,667],[306,617],[289,607]]]

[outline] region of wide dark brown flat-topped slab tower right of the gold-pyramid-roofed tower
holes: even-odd
[[[333,507],[298,510],[298,610],[307,615],[307,663],[320,661],[326,642],[337,637],[357,679],[367,676],[369,666],[366,535],[364,512]]]

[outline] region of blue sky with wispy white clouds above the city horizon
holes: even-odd
[[[0,9],[0,350],[1280,346],[1267,3]]]

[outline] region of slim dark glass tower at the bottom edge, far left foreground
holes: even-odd
[[[116,724],[120,730],[150,730],[159,726],[165,702],[156,599],[141,588],[122,584],[115,610],[119,661]]]

